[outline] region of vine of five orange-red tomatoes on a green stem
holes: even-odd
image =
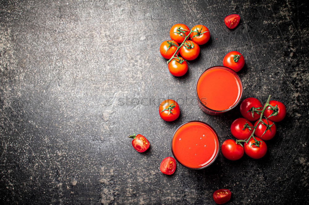
[[[189,30],[188,26],[177,23],[171,27],[170,37],[171,40],[161,43],[160,53],[163,58],[169,59],[167,67],[170,73],[177,77],[183,76],[188,71],[186,60],[197,58],[200,54],[199,45],[208,42],[210,32],[203,25],[196,25]],[[187,40],[189,37],[191,40]]]

